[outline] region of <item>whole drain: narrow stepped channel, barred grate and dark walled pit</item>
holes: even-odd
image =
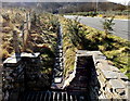
[[[77,56],[75,78],[63,89],[65,79],[63,76],[64,58],[62,38],[62,28],[60,27],[51,89],[46,91],[29,90],[21,92],[17,101],[92,101],[96,99],[96,92],[92,90],[95,87],[94,83],[96,79],[92,55]],[[14,100],[10,99],[9,101]]]

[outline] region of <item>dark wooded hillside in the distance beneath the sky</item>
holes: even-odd
[[[21,7],[29,9],[39,9],[40,11],[47,11],[51,13],[73,13],[73,12],[88,12],[96,11],[96,2],[3,2],[3,8],[8,7]],[[127,7],[122,4],[117,4],[113,2],[99,2],[99,11],[109,11],[109,10],[126,10]]]

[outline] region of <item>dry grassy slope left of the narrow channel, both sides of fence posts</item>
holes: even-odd
[[[20,13],[20,17],[16,16],[16,13]],[[1,53],[0,59],[5,60],[12,53],[14,53],[13,48],[13,36],[12,30],[17,29],[17,35],[20,38],[20,49],[22,49],[22,33],[21,26],[25,12],[21,10],[13,9],[11,12],[10,9],[3,10],[2,15],[9,15],[9,21],[3,18],[1,15],[2,31],[0,34],[2,43],[1,43]],[[34,16],[31,16],[34,17]],[[27,43],[27,52],[41,52],[41,72],[50,74],[52,72],[53,63],[54,63],[54,51],[56,46],[56,33],[57,33],[57,17],[49,14],[41,13],[37,16],[37,22],[34,24],[34,20],[31,20],[31,28],[29,31],[29,40]],[[16,27],[18,26],[18,27]]]

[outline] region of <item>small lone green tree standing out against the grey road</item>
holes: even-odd
[[[115,16],[113,16],[110,20],[109,18],[105,18],[104,22],[102,22],[103,28],[105,29],[105,34],[106,35],[110,34],[110,30],[114,30],[113,29],[113,25],[115,25],[115,23],[113,23],[114,17]]]

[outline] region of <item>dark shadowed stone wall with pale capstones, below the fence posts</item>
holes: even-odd
[[[31,85],[36,87],[38,83],[36,83],[34,78],[39,75],[39,55],[40,53],[14,53],[3,62],[2,92],[0,89],[3,101],[17,101],[21,92],[28,90]]]

